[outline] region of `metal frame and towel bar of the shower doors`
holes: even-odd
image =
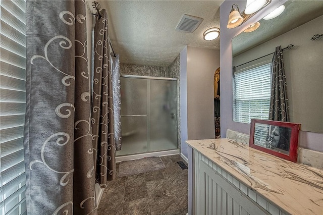
[[[137,78],[137,79],[149,79],[149,80],[165,80],[165,81],[176,81],[176,121],[177,121],[177,149],[179,149],[179,142],[178,142],[178,78],[167,78],[167,77],[152,77],[152,76],[140,76],[140,75],[120,75],[121,78]],[[122,102],[122,101],[121,101]],[[147,115],[122,115],[121,117],[139,117],[139,116],[146,116],[147,117],[147,151],[143,153],[153,153],[156,151],[150,151],[150,81],[147,81]],[[169,150],[177,150],[177,149],[169,149]],[[134,155],[134,154],[129,154]],[[119,156],[127,156],[127,155],[119,155]]]

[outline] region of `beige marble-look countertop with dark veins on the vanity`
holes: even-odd
[[[246,186],[291,214],[323,214],[323,171],[230,139],[188,140]]]

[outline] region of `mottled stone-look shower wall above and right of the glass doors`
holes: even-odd
[[[181,125],[180,125],[180,55],[168,67],[156,67],[147,65],[132,65],[132,64],[120,64],[121,75],[139,75],[150,77],[166,77],[166,78],[178,78],[177,83],[177,120],[178,120],[178,135],[177,143],[180,147],[181,143]],[[174,98],[176,100],[176,98]]]

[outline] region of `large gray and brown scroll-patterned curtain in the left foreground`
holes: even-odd
[[[97,214],[84,1],[26,3],[28,214]]]

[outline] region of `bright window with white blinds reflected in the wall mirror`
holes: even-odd
[[[268,120],[271,96],[271,63],[263,62],[234,74],[233,121]]]

